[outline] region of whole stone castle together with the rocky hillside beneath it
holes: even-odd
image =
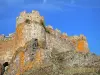
[[[86,37],[45,26],[38,11],[21,12],[16,32],[0,35],[0,62],[4,75],[100,74],[100,57],[89,51]]]

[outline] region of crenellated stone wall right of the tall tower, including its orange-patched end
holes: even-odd
[[[88,43],[84,35],[68,36],[66,33],[61,33],[58,29],[54,30],[50,25],[47,26],[46,29],[47,46],[50,46],[51,48],[56,46],[55,48],[58,47],[57,49],[61,48],[62,50],[64,50],[64,48],[70,50],[71,47],[77,52],[89,52]],[[69,46],[67,47],[68,44]]]

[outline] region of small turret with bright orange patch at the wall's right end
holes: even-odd
[[[88,42],[84,35],[81,34],[80,36],[71,36],[69,37],[69,40],[72,41],[77,52],[89,52]]]

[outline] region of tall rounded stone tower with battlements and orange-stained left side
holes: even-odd
[[[44,18],[38,11],[32,13],[21,12],[16,22],[16,43],[24,46],[32,38],[37,39],[42,45],[45,45],[45,28],[43,25]]]

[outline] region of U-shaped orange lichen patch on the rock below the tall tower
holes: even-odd
[[[42,57],[41,57],[41,52],[42,50],[37,50],[36,55],[35,55],[35,59],[33,61],[28,61],[27,64],[25,65],[24,61],[25,61],[25,53],[24,51],[21,51],[19,53],[20,56],[20,67],[18,69],[18,72],[16,75],[20,75],[23,74],[25,71],[30,70],[32,67],[36,67],[39,66],[40,63],[42,62]]]

